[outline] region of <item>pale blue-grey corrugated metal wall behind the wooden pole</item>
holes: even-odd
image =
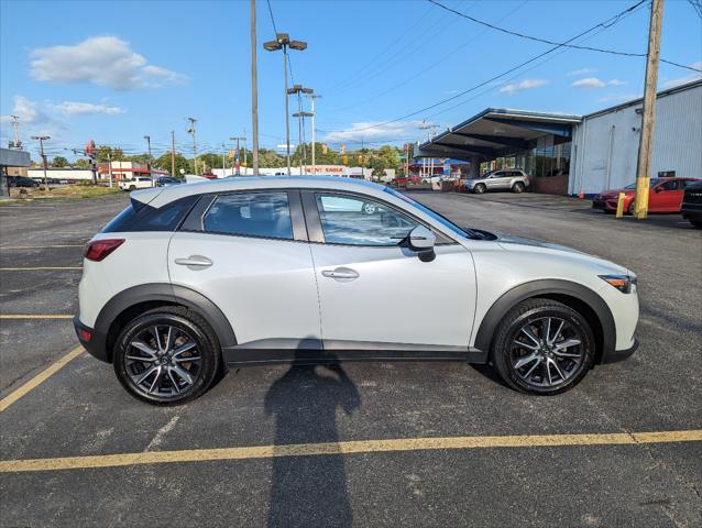
[[[568,191],[601,193],[636,179],[641,103],[616,107],[583,118],[573,130],[574,161]],[[651,177],[674,170],[676,176],[702,177],[702,85],[659,95]]]

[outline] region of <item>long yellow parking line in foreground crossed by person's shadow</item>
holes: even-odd
[[[404,438],[393,440],[358,440],[328,443],[297,443],[223,449],[190,449],[141,453],[65,457],[0,461],[0,473],[28,471],[85,470],[138,464],[206,462],[216,460],[272,459],[278,457],[314,457],[323,454],[376,453],[480,448],[545,448],[563,446],[630,446],[644,443],[702,441],[702,429],[688,431],[613,432],[593,435],[538,435],[505,437]]]

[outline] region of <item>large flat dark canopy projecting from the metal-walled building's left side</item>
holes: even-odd
[[[527,150],[542,135],[568,141],[580,121],[580,116],[489,108],[420,144],[415,157],[494,160]]]

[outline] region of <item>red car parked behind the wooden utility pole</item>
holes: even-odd
[[[699,178],[651,178],[648,193],[649,212],[680,212],[682,195],[685,186]],[[592,199],[593,209],[603,209],[605,212],[615,212],[619,193],[624,193],[624,211],[634,213],[634,198],[636,196],[636,183],[627,185],[623,189],[610,189],[596,195]]]

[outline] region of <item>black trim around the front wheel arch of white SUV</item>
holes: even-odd
[[[582,284],[561,279],[540,279],[524,283],[503,294],[487,310],[475,334],[475,348],[490,352],[493,336],[497,326],[507,312],[523,300],[549,296],[568,296],[586,305],[600,322],[600,350],[596,362],[606,363],[607,358],[615,352],[616,327],[612,310],[600,295]],[[593,331],[596,336],[596,330]]]

